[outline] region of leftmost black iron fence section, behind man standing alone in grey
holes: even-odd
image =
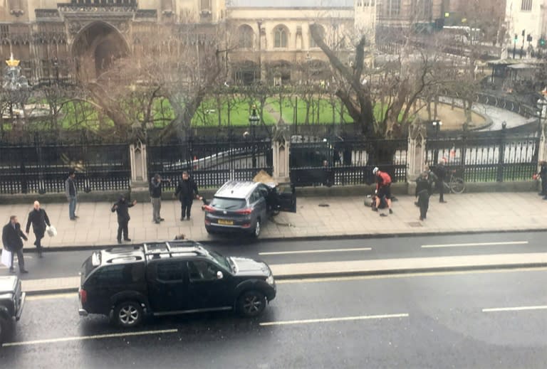
[[[60,193],[74,169],[80,191],[125,191],[127,144],[0,144],[0,193]]]

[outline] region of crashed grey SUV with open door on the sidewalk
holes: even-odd
[[[294,188],[283,192],[260,182],[228,181],[214,194],[205,210],[205,229],[246,232],[259,237],[262,226],[279,211],[296,213]]]

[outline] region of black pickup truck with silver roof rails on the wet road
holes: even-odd
[[[236,310],[259,316],[276,284],[264,262],[183,240],[93,252],[82,265],[79,296],[81,316],[103,314],[132,327],[145,315]]]

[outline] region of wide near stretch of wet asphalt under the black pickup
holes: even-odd
[[[143,336],[80,318],[75,294],[36,296],[0,366],[546,368],[547,309],[523,309],[547,305],[546,285],[546,269],[281,281],[259,319],[151,319],[136,331],[172,331]],[[483,311],[507,307],[520,309]],[[105,334],[113,336],[90,337]]]

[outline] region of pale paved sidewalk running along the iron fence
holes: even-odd
[[[486,232],[506,230],[545,230],[547,228],[547,200],[536,193],[464,193],[445,196],[447,203],[431,198],[427,220],[418,220],[419,210],[413,196],[398,196],[393,203],[392,215],[380,217],[363,205],[365,196],[298,198],[297,213],[281,213],[268,223],[262,239],[352,237],[358,235],[434,234],[447,232]],[[110,203],[79,203],[76,221],[68,219],[68,203],[43,203],[58,235],[43,240],[45,247],[87,247],[116,243],[115,213]],[[28,205],[0,205],[1,224],[8,223],[9,215],[18,215],[22,227],[26,225]],[[179,202],[164,200],[162,217],[165,222],[152,222],[152,205],[137,203],[130,208],[130,238],[133,243],[147,240],[171,240],[184,233],[194,240],[222,240],[209,236],[203,224],[203,212],[194,203],[193,218],[180,221]],[[26,249],[33,248],[31,230]]]

